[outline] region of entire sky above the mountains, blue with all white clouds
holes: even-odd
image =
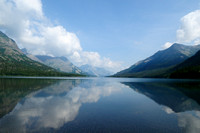
[[[0,0],[0,30],[33,55],[117,72],[164,45],[200,44],[200,1]]]

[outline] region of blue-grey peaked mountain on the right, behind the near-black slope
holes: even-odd
[[[139,61],[130,68],[116,73],[115,77],[167,77],[171,68],[193,56],[200,45],[173,44],[165,50]]]

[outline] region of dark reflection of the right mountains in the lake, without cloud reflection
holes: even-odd
[[[200,83],[125,82],[123,83],[174,112],[200,111]]]

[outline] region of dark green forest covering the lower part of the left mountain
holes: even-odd
[[[21,53],[19,55],[6,55],[4,48],[0,48],[0,51],[0,75],[3,76],[81,76],[56,71],[51,67],[29,59]],[[13,56],[18,59],[13,59]]]

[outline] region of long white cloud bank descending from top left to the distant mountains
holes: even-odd
[[[77,65],[119,70],[120,62],[84,51],[76,34],[54,25],[44,15],[41,0],[0,0],[0,29],[32,54],[66,56]]]

